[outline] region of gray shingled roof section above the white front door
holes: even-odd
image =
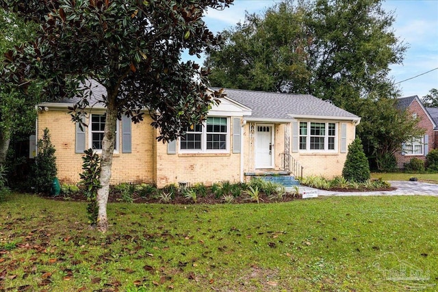
[[[228,98],[252,109],[251,118],[290,120],[292,116],[359,118],[310,94],[225,89]],[[291,116],[292,115],[292,116]]]

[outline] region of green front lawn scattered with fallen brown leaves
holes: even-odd
[[[88,229],[84,202],[14,195],[0,209],[0,291],[438,287],[435,197],[112,203],[104,235]],[[399,265],[426,280],[387,280]]]

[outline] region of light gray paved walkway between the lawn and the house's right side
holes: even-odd
[[[420,181],[389,181],[394,191],[324,191],[318,189],[318,196],[406,196],[424,195],[438,196],[438,185],[422,183]],[[291,188],[292,189],[292,188]],[[305,190],[313,190],[312,187],[300,186],[300,193]]]

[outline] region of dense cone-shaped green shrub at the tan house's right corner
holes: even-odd
[[[370,179],[370,164],[363,152],[361,139],[357,137],[350,146],[348,146],[347,159],[342,170],[342,176],[347,181],[357,181],[362,183]]]

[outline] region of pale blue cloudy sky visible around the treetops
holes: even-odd
[[[216,33],[244,21],[245,11],[260,14],[276,2],[279,1],[235,0],[226,10],[210,11],[205,22]],[[409,44],[403,64],[391,66],[390,73],[395,82],[403,81],[398,84],[402,96],[422,97],[430,89],[438,89],[438,0],[387,0],[383,8],[395,12],[396,36]],[[404,81],[429,70],[433,71]]]

